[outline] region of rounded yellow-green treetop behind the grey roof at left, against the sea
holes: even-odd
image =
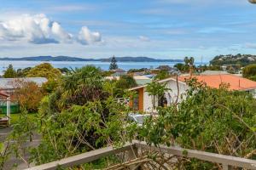
[[[28,71],[26,77],[46,77],[48,80],[58,79],[61,77],[61,71],[59,69],[55,69],[49,63],[43,63]]]

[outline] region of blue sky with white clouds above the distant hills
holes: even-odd
[[[0,0],[0,57],[256,54],[247,0]]]

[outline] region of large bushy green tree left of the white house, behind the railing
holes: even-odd
[[[37,127],[43,141],[32,150],[33,161],[41,164],[122,143],[128,109],[113,99],[112,85],[104,84],[94,66],[63,77],[60,87],[42,100]]]

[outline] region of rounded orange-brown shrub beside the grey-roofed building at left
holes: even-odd
[[[22,111],[36,112],[41,99],[43,99],[43,89],[39,88],[35,82],[15,82],[15,93],[12,96],[15,102],[20,105]]]

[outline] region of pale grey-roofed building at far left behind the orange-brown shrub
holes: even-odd
[[[35,82],[38,86],[42,86],[44,82],[47,82],[45,77],[25,77],[25,78],[0,78],[0,90],[3,93],[11,94],[15,90],[15,82]]]

